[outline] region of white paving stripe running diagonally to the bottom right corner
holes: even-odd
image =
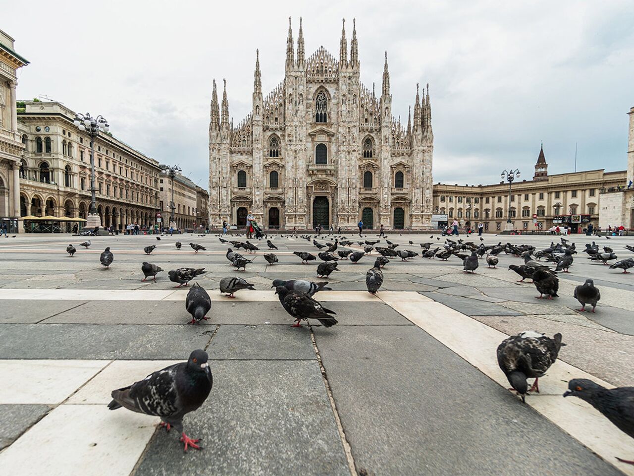
[[[450,348],[491,380],[504,388],[509,384],[498,367],[496,348],[507,334],[475,321],[456,310],[435,301],[422,299],[418,293],[380,293],[380,298],[411,322]],[[564,336],[564,342],[566,336]],[[634,466],[620,463],[615,457],[631,459],[632,440],[612,425],[589,404],[576,397],[562,396],[572,378],[589,378],[604,387],[613,385],[592,376],[562,360],[550,367],[540,378],[541,395],[529,395],[526,404],[559,426],[608,463],[628,476],[634,476]],[[477,395],[474,395],[477,398]],[[495,402],[488,402],[495,405]]]

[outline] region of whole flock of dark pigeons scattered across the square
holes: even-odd
[[[302,239],[311,242],[310,235],[301,235]],[[160,239],[157,237],[157,239]],[[231,265],[239,270],[246,269],[248,263],[252,263],[254,258],[245,258],[234,251],[235,249],[244,249],[251,255],[259,251],[259,247],[249,241],[228,241],[219,238],[223,244],[230,243],[233,248],[228,248],[226,258]],[[521,276],[519,282],[525,279],[532,279],[534,286],[540,293],[538,298],[546,296],[548,299],[559,297],[559,272],[569,272],[569,268],[573,266],[573,255],[577,253],[574,243],[561,238],[560,243],[554,242],[546,249],[538,250],[534,246],[514,245],[511,243],[498,243],[492,246],[485,246],[483,243],[475,245],[474,242],[465,242],[461,239],[453,241],[446,239],[442,246],[432,246],[432,242],[420,243],[422,258],[448,260],[452,256],[460,258],[463,262],[463,271],[474,273],[479,267],[479,258],[485,258],[488,267],[495,268],[498,265],[498,255],[505,253],[507,255],[522,258],[524,264],[509,265],[509,269]],[[382,268],[390,262],[388,258],[400,258],[401,261],[408,261],[419,255],[416,251],[399,248],[395,244],[385,239],[387,246],[377,246],[380,240],[375,241],[357,241],[353,242],[346,237],[335,237],[333,242],[321,243],[316,240],[316,236],[312,237],[313,245],[319,250],[317,256],[307,251],[295,251],[294,254],[300,258],[302,264],[309,261],[321,262],[317,267],[318,277],[328,277],[332,272],[339,271],[337,267],[340,261],[348,260],[351,263],[358,263],[361,258],[371,255],[372,251],[376,251],[374,265],[366,272],[366,287],[368,292],[375,294],[382,286],[384,276]],[[81,244],[85,248],[90,246],[91,242],[87,241]],[[278,248],[271,242],[266,240],[268,251],[277,250]],[[343,249],[351,245],[357,244],[363,248],[363,251],[354,251],[353,249]],[[410,245],[413,242],[410,241]],[[191,248],[198,251],[205,251],[205,247],[200,244],[190,243]],[[341,247],[341,248],[340,248]],[[146,255],[152,253],[155,245],[145,248]],[[181,243],[176,242],[176,248],[181,249]],[[399,249],[398,249],[399,248]],[[634,247],[626,246],[627,249],[634,252]],[[67,252],[70,256],[74,255],[76,249],[69,245]],[[334,253],[337,253],[335,255]],[[586,244],[583,250],[588,255],[588,259],[592,261],[600,261],[607,265],[607,261],[617,260],[614,251],[605,246],[603,249],[592,242]],[[277,256],[272,253],[265,253],[264,259],[268,265],[278,263]],[[542,261],[543,260],[543,261]],[[113,255],[110,248],[106,248],[100,256],[101,264],[109,268],[113,262]],[[553,263],[554,267],[549,267],[547,263]],[[629,268],[634,267],[634,259],[627,258],[616,261],[610,266],[612,269],[623,269],[624,273]],[[145,279],[152,277],[156,280],[156,275],[162,271],[159,266],[143,262],[141,271]],[[205,268],[178,268],[169,271],[169,279],[181,286],[188,286],[198,275],[204,274]],[[301,326],[301,321],[308,319],[316,319],[324,327],[332,327],[337,324],[335,319],[336,313],[333,310],[323,307],[320,302],[316,301],[313,296],[322,290],[331,290],[328,282],[311,282],[304,279],[291,279],[288,281],[275,279],[271,283],[271,288],[275,288],[275,294],[280,300],[283,309],[294,319],[294,327]],[[220,281],[221,293],[226,293],[227,297],[235,297],[235,293],[242,289],[255,289],[254,284],[247,282],[241,277],[225,277]],[[594,286],[592,279],[586,279],[584,284],[576,286],[574,289],[574,298],[581,304],[579,311],[585,310],[586,305],[592,306],[592,312],[595,312],[597,303],[600,300],[600,291]],[[207,320],[207,314],[212,306],[212,301],[204,288],[197,283],[191,286],[185,300],[187,312],[191,315],[190,324],[200,323]],[[562,334],[557,333],[552,338],[536,331],[524,331],[514,336],[510,336],[503,340],[497,348],[497,359],[500,369],[503,371],[511,387],[521,396],[522,402],[525,401],[529,392],[538,392],[538,380],[545,375],[557,359],[560,348],[566,345],[562,342]],[[212,373],[207,362],[208,355],[204,350],[194,350],[187,362],[181,362],[173,366],[165,367],[165,369],[156,371],[148,375],[145,379],[130,385],[129,387],[119,388],[112,392],[112,402],[108,405],[110,409],[126,407],[129,410],[139,413],[145,413],[160,416],[162,423],[167,431],[173,426],[181,433],[181,442],[184,443],[184,451],[188,447],[201,449],[197,444],[199,440],[191,439],[184,433],[183,416],[200,407],[205,399],[207,399],[212,388]],[[533,379],[533,385],[529,388],[527,379]],[[604,388],[597,383],[586,379],[573,379],[569,381],[568,390],[564,393],[564,397],[575,396],[592,404],[598,411],[604,414],[614,425],[626,434],[634,438],[634,387],[621,388]],[[634,461],[628,461],[618,458],[619,461],[634,464]]]

